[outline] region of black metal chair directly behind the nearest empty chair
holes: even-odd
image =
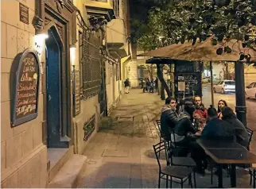
[[[173,143],[165,141],[165,152],[167,155],[166,161],[167,165],[171,166],[180,166],[180,167],[187,167],[192,168],[193,170],[193,179],[196,187],[196,163],[195,161],[188,156],[180,157],[180,156],[173,156],[173,149],[175,148],[175,145]]]

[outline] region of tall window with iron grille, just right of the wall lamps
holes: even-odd
[[[92,33],[83,28],[82,39],[80,40],[80,70],[83,86],[81,93],[83,98],[91,98],[99,93],[101,82],[101,46],[100,33]]]

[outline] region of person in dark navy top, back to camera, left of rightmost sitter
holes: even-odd
[[[205,125],[201,137],[211,140],[234,141],[232,125],[218,118],[217,110],[214,107],[208,109],[209,122]]]

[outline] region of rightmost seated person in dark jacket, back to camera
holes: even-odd
[[[229,122],[235,133],[236,141],[247,148],[249,143],[249,136],[246,127],[236,118],[233,110],[230,107],[224,107],[222,110],[223,121]]]

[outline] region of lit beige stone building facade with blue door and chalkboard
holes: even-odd
[[[126,11],[125,0],[1,1],[2,187],[47,187],[83,154],[122,96]]]

